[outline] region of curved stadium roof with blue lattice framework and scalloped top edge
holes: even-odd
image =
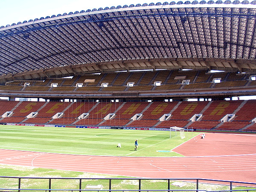
[[[137,69],[256,71],[256,1],[150,3],[0,27],[0,78]]]

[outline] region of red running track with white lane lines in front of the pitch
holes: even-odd
[[[209,133],[206,138],[208,136],[210,139]],[[200,143],[207,143],[206,138],[200,140]],[[250,138],[253,139],[252,142],[256,141],[256,137]],[[183,144],[183,151],[189,150],[191,146],[187,148],[187,145],[195,144],[198,139],[199,136]],[[236,148],[236,140],[233,142]],[[178,147],[179,150],[180,147],[182,145]],[[255,148],[256,145],[253,150],[256,150]],[[146,178],[207,178],[256,182],[256,154],[212,157],[111,157],[0,149],[0,163]]]

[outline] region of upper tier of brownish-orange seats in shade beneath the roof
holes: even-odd
[[[212,83],[214,78],[221,78],[221,83]],[[190,80],[183,85],[183,80]],[[161,81],[161,86],[153,86],[154,81]],[[134,82],[134,87],[127,87],[128,82]],[[50,87],[58,83],[58,87]],[[76,83],[83,83],[83,87],[76,87]],[[108,87],[100,87],[108,83]],[[14,81],[7,85],[0,85],[2,90],[18,91],[138,91],[138,90],[173,90],[198,89],[255,85],[255,81],[248,81],[248,76],[236,73],[206,73],[202,71],[157,70],[143,72],[120,72],[88,74],[70,78],[46,79],[45,81],[31,82],[30,86],[23,87],[24,82]]]

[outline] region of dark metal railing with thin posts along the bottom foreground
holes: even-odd
[[[210,179],[0,177],[0,192],[256,191],[256,183]]]

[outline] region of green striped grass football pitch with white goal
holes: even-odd
[[[198,135],[126,129],[53,128],[0,125],[0,148],[61,154],[171,157],[172,149]],[[134,141],[138,140],[138,151]],[[121,148],[117,147],[118,143]]]

